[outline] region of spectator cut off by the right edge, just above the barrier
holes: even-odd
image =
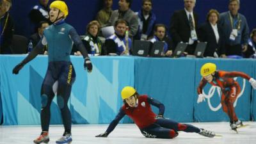
[[[252,30],[248,40],[248,49],[243,53],[244,58],[256,58],[256,29]]]

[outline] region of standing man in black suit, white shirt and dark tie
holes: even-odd
[[[188,42],[185,52],[194,54],[197,37],[198,15],[193,12],[196,0],[184,0],[184,10],[173,13],[170,22],[170,34],[173,46],[176,47],[180,42]]]

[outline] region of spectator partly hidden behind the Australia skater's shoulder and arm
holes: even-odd
[[[41,40],[43,33],[44,33],[44,29],[47,28],[48,26],[49,26],[49,23],[47,21],[39,22],[39,25],[37,28],[37,33],[34,33],[29,38],[29,42],[32,42],[33,48]],[[40,52],[40,54],[47,54],[47,46],[46,45],[44,46],[44,49],[42,50],[42,52]]]

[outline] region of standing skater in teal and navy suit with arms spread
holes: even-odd
[[[72,84],[76,79],[76,72],[70,61],[70,52],[73,43],[81,52],[84,58],[84,68],[92,72],[92,63],[88,53],[81,42],[76,30],[65,22],[68,15],[68,7],[64,1],[53,1],[50,5],[50,20],[53,23],[44,30],[42,39],[29,55],[21,61],[15,68],[13,74],[18,74],[19,70],[26,63],[33,60],[44,48],[48,46],[48,68],[41,89],[41,127],[42,132],[34,143],[49,142],[49,122],[51,102],[54,98],[53,87],[55,86],[57,102],[61,111],[61,118],[65,127],[63,136],[56,143],[70,143],[71,138],[71,116],[67,106]]]

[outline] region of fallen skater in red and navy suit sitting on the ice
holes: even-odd
[[[164,118],[164,105],[148,95],[139,95],[131,86],[125,86],[121,92],[124,105],[120,108],[115,119],[109,124],[106,132],[97,135],[96,137],[108,137],[118,122],[125,116],[132,118],[134,123],[139,127],[143,136],[147,138],[175,138],[178,136],[178,131],[196,132],[202,136],[213,138],[214,132],[205,129],[199,129],[193,125],[180,124],[173,120]],[[156,115],[151,106],[159,108],[159,113]]]

